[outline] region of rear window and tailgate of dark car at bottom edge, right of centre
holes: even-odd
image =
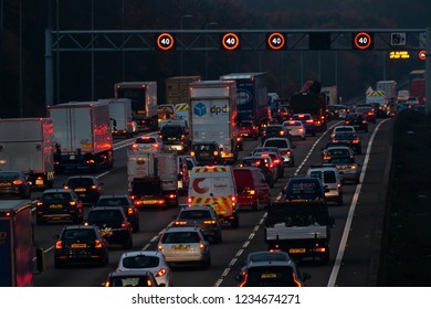
[[[296,287],[290,266],[262,266],[248,270],[246,287]]]

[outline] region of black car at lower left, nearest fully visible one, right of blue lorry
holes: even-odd
[[[108,244],[94,225],[66,225],[55,235],[54,266],[90,263],[105,266],[109,263]]]

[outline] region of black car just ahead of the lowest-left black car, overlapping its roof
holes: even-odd
[[[86,224],[96,225],[109,245],[119,244],[129,249],[133,246],[133,227],[123,207],[92,207]]]

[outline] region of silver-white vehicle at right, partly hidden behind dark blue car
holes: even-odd
[[[327,202],[336,202],[338,205],[343,205],[343,180],[336,166],[311,166],[306,175],[320,179]]]

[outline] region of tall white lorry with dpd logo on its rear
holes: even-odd
[[[235,81],[203,81],[190,84],[191,143],[216,141],[224,163],[238,159],[238,115]]]

